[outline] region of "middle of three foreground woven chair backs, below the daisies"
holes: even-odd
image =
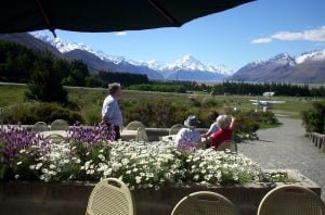
[[[237,215],[237,208],[225,197],[200,191],[183,198],[172,210],[171,215]]]

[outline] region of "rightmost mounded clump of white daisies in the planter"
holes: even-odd
[[[225,185],[259,181],[261,169],[243,154],[197,150],[186,159],[186,179],[203,185]]]

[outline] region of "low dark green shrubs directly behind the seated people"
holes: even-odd
[[[209,127],[208,113],[209,108],[203,108],[203,104],[182,105],[171,103],[165,100],[145,101],[141,103],[120,102],[123,111],[125,124],[132,121],[141,121],[147,127],[171,127],[182,122],[190,114],[198,116],[202,124],[199,127]],[[214,106],[216,108],[216,106]],[[278,122],[272,112],[255,111],[227,111],[227,114],[236,117],[236,132],[251,134],[256,132],[261,125],[277,125]]]

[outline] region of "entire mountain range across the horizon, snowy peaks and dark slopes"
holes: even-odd
[[[25,45],[37,51],[50,51],[57,58],[81,60],[93,71],[145,74],[150,79],[220,81],[325,81],[325,50],[314,50],[292,56],[277,54],[266,61],[255,61],[237,72],[224,65],[203,63],[187,54],[173,63],[155,60],[141,62],[94,51],[87,45],[66,42],[44,34],[5,34],[0,39]]]

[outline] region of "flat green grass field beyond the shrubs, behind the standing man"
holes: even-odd
[[[0,106],[10,106],[24,102],[24,92],[26,86],[21,85],[0,85]],[[98,117],[101,111],[102,102],[106,97],[107,90],[101,88],[67,88],[69,93],[69,100],[77,103],[81,109],[81,115],[90,115],[88,117]],[[195,92],[194,92],[195,93]],[[191,104],[188,93],[173,93],[173,92],[147,92],[147,91],[131,91],[123,90],[121,102],[139,102],[139,101],[159,101],[165,100],[177,104]],[[256,97],[238,97],[238,96],[214,96],[211,97],[208,93],[199,92],[196,94],[198,100],[204,102],[205,100],[213,100],[219,106],[219,111],[222,112],[225,108],[233,109],[236,106],[238,110],[251,110],[257,109],[251,104],[249,100],[256,99]],[[261,100],[266,100],[260,98]],[[304,101],[301,98],[295,97],[275,97],[272,100],[286,101],[284,104],[274,104],[272,111],[277,116],[300,118],[301,111],[311,108],[312,100]],[[193,105],[193,104],[192,104]],[[92,116],[93,115],[93,116]]]

